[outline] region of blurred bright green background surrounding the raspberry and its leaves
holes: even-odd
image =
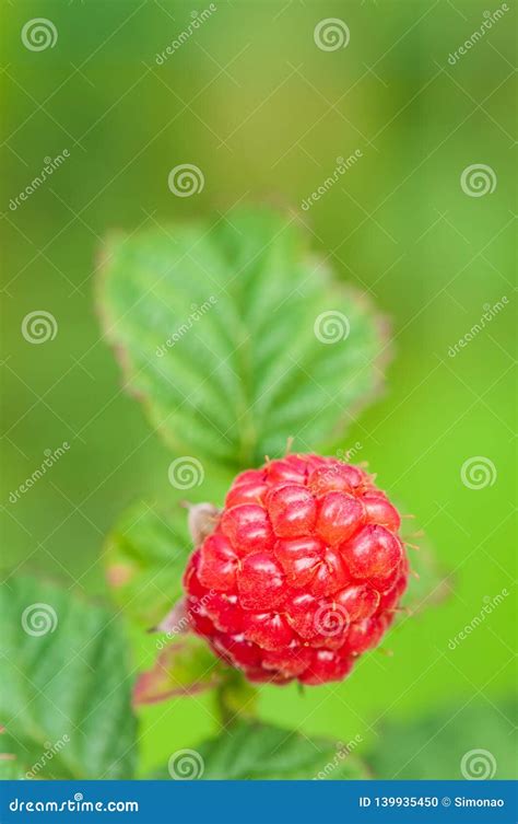
[[[378,721],[412,724],[443,710],[452,718],[450,707],[472,701],[501,723],[495,707],[516,677],[514,597],[455,650],[448,641],[480,613],[484,596],[515,591],[514,11],[451,65],[448,55],[484,21],[485,0],[216,7],[158,66],[156,54],[204,4],[3,5],[3,567],[8,575],[47,573],[104,599],[101,553],[114,521],[142,497],[181,497],[167,478],[172,453],[121,391],[99,337],[93,279],[102,237],[111,228],[214,220],[236,201],[273,200],[298,209],[315,251],[330,255],[337,276],[391,318],[387,392],[343,446],[362,444],[358,459],[415,513],[454,587],[447,601],[392,631],[385,647],[393,657],[370,653],[345,683],[303,696],[296,687],[266,687],[261,716],[307,734],[361,735],[365,750]],[[59,33],[56,46],[39,53],[20,36],[37,16]],[[346,22],[346,48],[316,47],[322,18]],[[44,159],[66,149],[70,158],[51,179],[12,210],[11,198]],[[358,162],[301,210],[337,156],[355,150]],[[178,163],[203,170],[201,194],[173,196],[167,176]],[[461,173],[475,163],[494,171],[493,194],[462,190]],[[484,304],[504,295],[505,309],[449,357]],[[33,310],[58,322],[56,339],[44,346],[21,334]],[[63,441],[69,452],[11,503],[45,450]],[[460,467],[472,456],[493,462],[493,486],[462,484]],[[217,495],[226,480],[214,467],[201,497]],[[133,635],[136,661],[150,663],[149,642]],[[204,698],[141,716],[143,771],[214,729]],[[505,734],[507,720],[504,712]]]

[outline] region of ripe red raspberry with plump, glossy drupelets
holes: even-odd
[[[337,459],[243,472],[189,559],[191,626],[250,681],[341,681],[407,588],[399,527],[370,476]]]

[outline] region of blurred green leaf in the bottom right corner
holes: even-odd
[[[517,709],[515,699],[470,701],[417,722],[391,722],[380,728],[367,762],[385,780],[516,779]]]

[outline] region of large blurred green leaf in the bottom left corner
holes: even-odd
[[[128,650],[110,612],[30,578],[0,589],[2,752],[38,778],[131,778]]]

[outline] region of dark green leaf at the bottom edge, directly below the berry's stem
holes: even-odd
[[[179,751],[156,778],[181,775],[189,756],[195,775],[207,779],[360,779],[368,774],[354,755],[356,742],[308,739],[262,723],[239,722],[196,751]],[[186,769],[187,771],[187,769]]]

